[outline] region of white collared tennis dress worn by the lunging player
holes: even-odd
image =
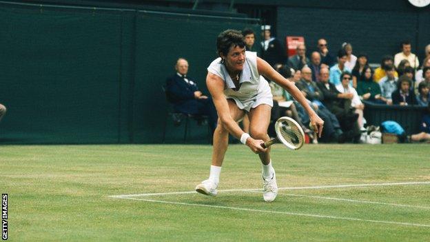
[[[264,77],[260,76],[257,70],[256,52],[245,52],[245,63],[240,73],[239,90],[233,90],[235,88],[234,82],[225,65],[221,63],[221,57],[212,61],[207,71],[223,79],[225,82],[225,97],[233,99],[241,110],[249,112],[251,108],[256,108],[263,103],[273,107],[273,97],[269,83]]]

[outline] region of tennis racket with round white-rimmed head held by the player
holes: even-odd
[[[289,117],[280,117],[275,123],[276,138],[262,143],[267,148],[274,143],[283,143],[291,150],[298,150],[305,143],[305,133],[300,125]]]

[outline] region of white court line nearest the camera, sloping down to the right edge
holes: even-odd
[[[152,199],[136,199],[136,198],[132,198],[132,197],[117,197],[117,198],[119,198],[119,199],[131,199],[131,200],[138,200],[138,201],[147,201],[147,202],[152,202],[152,203],[187,205],[187,206],[205,207],[205,208],[221,208],[221,209],[239,210],[239,211],[247,211],[247,212],[263,212],[263,213],[269,213],[269,214],[287,214],[287,215],[293,215],[293,216],[309,216],[309,217],[313,217],[313,218],[322,218],[322,219],[340,219],[340,220],[362,221],[362,222],[371,222],[371,223],[389,223],[389,224],[394,224],[394,225],[408,225],[408,226],[430,228],[430,225],[420,224],[420,223],[378,221],[378,220],[371,220],[371,219],[355,219],[355,218],[348,218],[348,217],[342,217],[342,216],[326,216],[326,215],[319,215],[319,214],[302,214],[302,213],[296,213],[296,212],[279,212],[279,211],[270,211],[270,210],[257,210],[257,209],[252,209],[252,208],[236,208],[236,207],[227,207],[227,206],[220,206],[220,205],[207,205],[207,204],[200,204],[200,203],[179,203],[179,202],[172,202],[172,201],[152,200]]]

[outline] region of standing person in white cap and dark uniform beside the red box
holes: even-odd
[[[277,63],[284,63],[285,51],[280,41],[272,37],[270,30],[271,26],[261,26],[261,34],[264,39],[264,41],[261,42],[261,57],[267,61],[267,63],[274,66]]]

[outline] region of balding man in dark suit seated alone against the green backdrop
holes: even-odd
[[[176,73],[166,80],[166,93],[175,112],[207,115],[208,124],[214,132],[218,115],[210,97],[198,90],[197,84],[187,77],[188,61],[179,58],[175,65]]]

